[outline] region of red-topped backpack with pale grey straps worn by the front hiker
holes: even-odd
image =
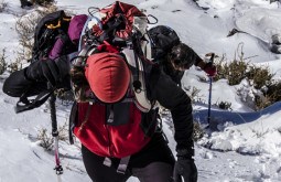
[[[115,3],[90,13],[82,32],[79,54],[74,57],[73,65],[84,67],[87,57],[100,52],[97,47],[107,44],[120,50],[132,71],[132,86],[136,103],[142,111],[151,109],[145,92],[147,69],[143,62],[151,60],[150,38],[148,35],[148,17],[134,6],[116,1]],[[76,95],[76,100],[80,100]]]

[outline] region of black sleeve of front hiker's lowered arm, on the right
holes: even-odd
[[[186,93],[159,66],[153,66],[149,79],[152,99],[171,110],[177,148],[193,147],[192,104]]]

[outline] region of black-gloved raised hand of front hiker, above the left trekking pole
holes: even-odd
[[[68,75],[69,65],[66,56],[60,58],[41,60],[32,63],[25,68],[25,77],[36,82],[48,82],[53,87],[56,87],[63,81],[63,77]]]

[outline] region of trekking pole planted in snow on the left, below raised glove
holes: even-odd
[[[54,170],[56,171],[57,182],[61,182],[61,174],[63,174],[63,168],[60,163],[60,156],[58,156],[58,130],[57,130],[57,121],[56,121],[56,110],[55,110],[55,95],[52,93],[50,98],[50,108],[51,108],[51,120],[52,120],[52,136],[54,137],[55,144],[54,144],[54,152],[55,152],[55,162],[56,165]]]

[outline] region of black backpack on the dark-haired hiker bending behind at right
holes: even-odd
[[[156,60],[166,55],[166,53],[180,43],[180,38],[175,31],[165,25],[158,25],[149,30],[149,36],[152,41],[152,58]]]

